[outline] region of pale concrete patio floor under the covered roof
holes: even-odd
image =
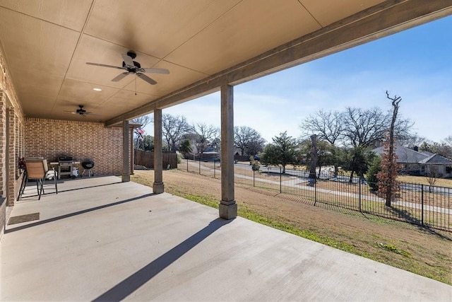
[[[51,182],[49,182],[50,184]],[[120,178],[30,184],[1,301],[452,301],[452,286]]]

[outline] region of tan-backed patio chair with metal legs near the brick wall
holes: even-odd
[[[49,170],[49,166],[47,165],[47,160],[42,158],[26,158],[25,159],[25,185],[23,190],[28,183],[28,180],[35,180],[37,187],[38,199],[41,199],[42,193],[44,193],[44,182],[46,179],[54,180],[55,184],[55,193],[58,194],[57,187],[57,171],[54,169]],[[23,193],[23,192],[22,192]]]

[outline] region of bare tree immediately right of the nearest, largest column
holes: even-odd
[[[255,129],[248,126],[234,127],[234,146],[240,149],[241,155],[256,155],[263,150],[265,139]]]

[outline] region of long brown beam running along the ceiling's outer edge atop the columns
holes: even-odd
[[[452,0],[386,1],[107,120],[105,126],[207,95],[222,85],[251,81],[451,14]]]

